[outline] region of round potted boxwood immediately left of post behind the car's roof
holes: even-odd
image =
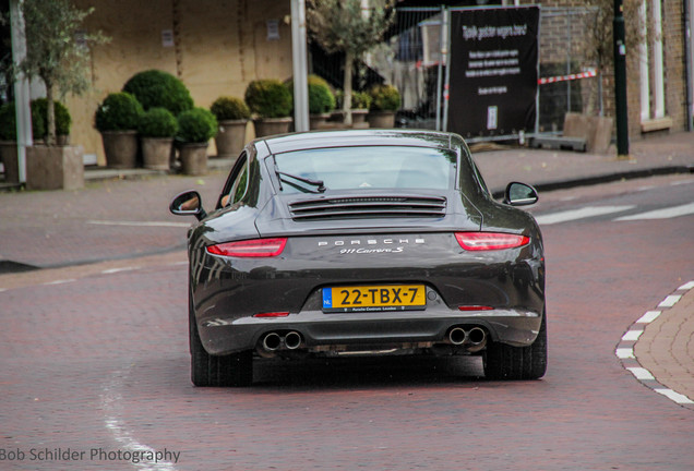
[[[292,99],[289,88],[282,82],[274,78],[253,81],[248,84],[243,99],[255,114],[256,136],[289,132]]]

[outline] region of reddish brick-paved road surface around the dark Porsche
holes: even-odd
[[[694,279],[693,195],[691,176],[541,195],[550,359],[535,382],[395,357],[194,388],[183,253],[4,275],[0,470],[692,470],[692,410],[614,349]]]

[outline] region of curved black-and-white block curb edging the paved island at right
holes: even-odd
[[[624,333],[614,349],[614,354],[620,360],[622,367],[633,374],[641,384],[655,392],[667,397],[678,406],[694,411],[694,400],[692,398],[661,384],[654,373],[643,367],[634,354],[634,348],[646,327],[659,316],[667,316],[668,311],[670,311],[682,299],[682,297],[692,289],[694,289],[694,281],[684,283],[662,300],[656,310],[646,312],[638,321],[629,327],[626,333]]]

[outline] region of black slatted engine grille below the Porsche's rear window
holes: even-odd
[[[294,220],[366,218],[440,218],[446,198],[439,196],[359,196],[289,203]]]

